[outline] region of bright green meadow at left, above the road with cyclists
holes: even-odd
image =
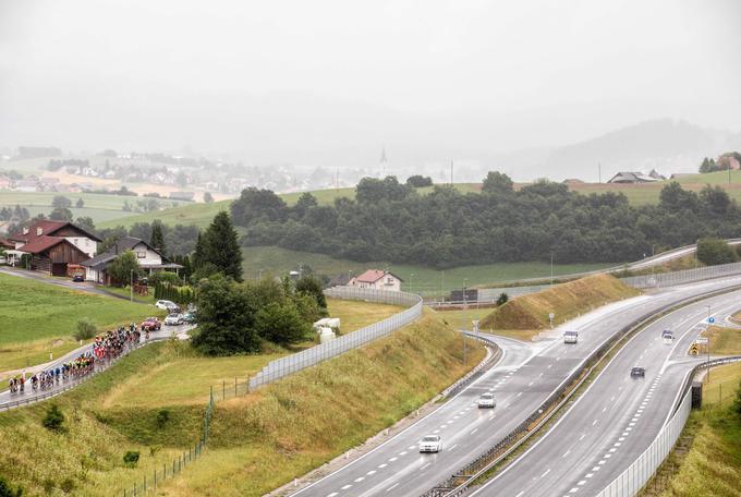
[[[8,275],[0,275],[0,372],[44,363],[49,353],[58,357],[70,352],[78,346],[72,335],[82,317],[107,329],[162,314],[121,299]]]

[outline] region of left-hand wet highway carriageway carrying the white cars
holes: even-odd
[[[741,277],[688,284],[612,303],[567,323],[552,332],[550,340],[534,344],[496,338],[505,351],[496,367],[386,444],[293,495],[421,495],[505,438],[585,357],[625,324],[667,304],[737,284],[741,284]],[[560,332],[567,328],[579,330],[576,347],[566,346],[560,339]],[[476,408],[475,402],[484,391],[494,391],[497,396],[495,410]],[[420,454],[417,443],[429,434],[442,437],[444,450]]]

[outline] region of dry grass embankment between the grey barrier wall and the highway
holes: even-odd
[[[393,424],[483,359],[427,311],[392,336],[217,404],[209,449],[161,495],[258,496]]]

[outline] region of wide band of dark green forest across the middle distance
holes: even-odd
[[[655,206],[622,194],[582,195],[540,181],[514,191],[490,172],[482,193],[436,186],[427,195],[393,177],[363,179],[356,198],[320,206],[308,193],[288,205],[248,189],[231,206],[244,245],[278,245],[353,260],[435,267],[498,262],[621,263],[699,238],[741,234],[741,209],[719,187],[699,194],[668,183]]]

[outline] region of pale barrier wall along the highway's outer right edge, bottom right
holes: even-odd
[[[675,410],[671,419],[665,424],[654,438],[654,441],[639,458],[607,485],[596,497],[633,497],[648,483],[656,474],[664,460],[669,456],[679,436],[684,429],[687,419],[692,410],[692,378],[697,371],[714,367],[722,364],[741,361],[741,356],[721,357],[697,364],[687,376],[682,390],[684,395]]]

